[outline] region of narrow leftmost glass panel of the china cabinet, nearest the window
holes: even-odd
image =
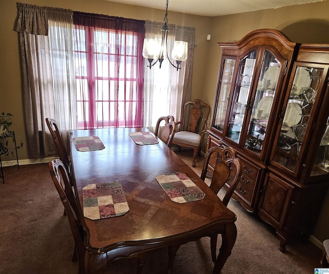
[[[220,132],[224,130],[225,116],[230,98],[230,91],[232,86],[232,75],[234,71],[235,60],[223,59],[222,77],[220,79],[220,90],[218,92],[217,105],[215,109],[215,119],[212,125]]]

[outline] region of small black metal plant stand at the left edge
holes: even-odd
[[[11,141],[8,140],[8,138],[13,139],[12,143],[14,144],[14,147],[10,145]],[[6,160],[4,160],[4,156],[3,158],[1,157],[2,155],[5,156]],[[9,158],[10,155],[12,156],[11,158]],[[7,163],[9,163],[10,161],[12,161],[12,163],[14,164],[7,165]],[[20,169],[19,157],[17,154],[15,132],[8,131],[6,135],[0,136],[0,169],[1,169],[0,177],[2,178],[4,184],[5,184],[4,169],[14,166],[17,166],[17,168]]]

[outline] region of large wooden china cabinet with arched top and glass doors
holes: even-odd
[[[243,172],[233,198],[275,227],[285,251],[292,233],[312,234],[329,184],[329,45],[271,29],[218,45],[207,149],[236,150]]]

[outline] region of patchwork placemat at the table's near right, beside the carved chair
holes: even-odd
[[[162,174],[156,180],[169,198],[179,204],[202,200],[206,195],[184,173]]]

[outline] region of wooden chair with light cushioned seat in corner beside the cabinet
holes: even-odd
[[[173,144],[193,149],[192,166],[195,168],[196,154],[200,155],[200,146],[206,132],[205,125],[208,120],[210,107],[202,100],[196,99],[184,104],[183,119],[177,122],[179,131],[175,133]]]

